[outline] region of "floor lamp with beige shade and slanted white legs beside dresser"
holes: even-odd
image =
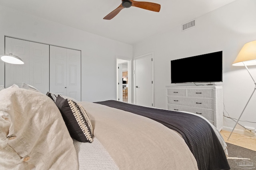
[[[236,59],[235,59],[235,61],[232,65],[233,66],[245,66],[246,70],[248,71],[248,73],[252,77],[252,74],[250,73],[247,66],[256,65],[256,41],[251,41],[249,43],[246,43],[243,46],[243,48],[241,49],[241,51],[238,53],[238,56],[236,57]],[[254,81],[254,85],[255,85],[254,90],[252,92],[252,95],[253,95],[255,90],[256,90],[256,82],[253,79],[253,77],[252,77],[252,80]],[[249,98],[248,102],[246,103],[241,115],[239,116],[238,120],[236,121],[236,125],[237,125],[238,121],[240,120],[242,114],[244,113],[244,110],[245,110],[246,106],[250,102],[250,99],[252,98],[252,95],[250,96],[250,98]],[[232,132],[230,133],[228,139],[230,138],[231,134],[233,133],[236,125],[234,126],[234,128],[233,128]]]

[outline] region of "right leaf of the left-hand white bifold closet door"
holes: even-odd
[[[30,42],[29,84],[43,94],[49,91],[49,45]]]

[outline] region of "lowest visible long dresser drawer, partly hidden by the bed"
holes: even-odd
[[[180,107],[180,106],[173,106],[173,105],[167,105],[167,108],[168,108],[168,110],[188,111],[191,113],[196,113],[196,114],[202,115],[208,121],[214,121],[213,120],[213,111],[211,111],[211,110],[193,109],[193,108],[189,108],[189,107]]]

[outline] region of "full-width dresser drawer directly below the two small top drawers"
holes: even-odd
[[[167,97],[167,104],[189,106],[204,109],[213,109],[213,100]]]

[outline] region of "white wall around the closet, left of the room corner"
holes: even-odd
[[[82,51],[82,101],[116,99],[116,55],[132,59],[132,45],[0,6],[0,55],[4,35]],[[0,85],[4,63],[0,61]]]

